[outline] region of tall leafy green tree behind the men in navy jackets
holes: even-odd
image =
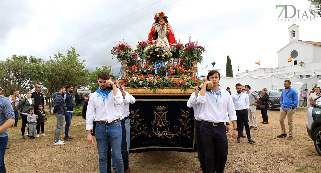
[[[85,60],[79,59],[74,47],[67,51],[67,56],[58,52],[46,62],[48,82],[46,84],[48,105],[51,109],[53,93],[59,86],[73,85],[74,88],[86,87],[90,84],[89,70],[85,69]]]

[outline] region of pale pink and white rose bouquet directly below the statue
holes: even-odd
[[[143,59],[150,61],[150,65],[154,64],[154,62],[166,62],[172,55],[166,44],[161,43],[159,39],[152,41],[152,44],[147,43],[144,51]]]

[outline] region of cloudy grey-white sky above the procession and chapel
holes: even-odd
[[[276,4],[293,5],[295,17],[284,21],[283,11],[278,19],[282,8],[275,9]],[[74,46],[90,71],[112,65],[117,74],[120,63],[111,59],[112,47],[124,39],[135,48],[147,38],[153,14],[164,11],[177,40],[187,43],[191,36],[206,48],[199,74],[207,74],[205,67],[211,68],[215,61],[225,75],[229,55],[236,75],[238,67],[240,72],[277,67],[276,51],[289,43],[288,28],[293,23],[300,26],[300,40],[321,42],[321,18],[302,18],[304,11],[313,18],[309,7],[308,0],[0,0],[0,60],[13,54],[48,60]],[[298,10],[302,19],[298,19]],[[293,13],[288,6],[288,17]],[[255,64],[259,60],[260,66]]]

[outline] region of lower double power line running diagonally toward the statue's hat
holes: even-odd
[[[182,0],[179,0],[179,1],[182,1]],[[177,2],[175,2],[175,3],[178,3],[179,1],[177,1]],[[189,0],[189,1],[192,1],[192,0]],[[189,2],[189,1],[187,1],[187,2]],[[182,3],[182,4],[185,4],[185,3],[187,3],[187,2],[184,2],[184,3]],[[173,3],[173,4],[175,4],[175,3]],[[182,5],[182,4],[179,4],[179,5]],[[170,4],[170,5],[172,5],[172,4]],[[166,7],[170,6],[170,5],[167,5],[167,6],[163,7],[163,8],[166,8]],[[172,7],[172,8],[175,8],[175,7],[179,6],[179,5],[176,5],[176,6]],[[161,10],[161,9],[163,9],[163,8],[160,8],[159,10]],[[167,9],[167,10],[170,10],[170,9],[172,9],[172,8],[169,8],[169,9]],[[154,11],[154,12],[158,12],[159,10],[156,10],[156,11]],[[165,11],[166,11],[166,10],[165,10]],[[147,15],[145,15],[145,16],[148,16],[148,15],[150,15],[150,14],[153,14],[154,12],[149,13],[149,14],[147,14]],[[145,17],[145,16],[143,16],[143,17]],[[140,18],[138,18],[138,19],[141,19],[141,18],[143,18],[143,17],[140,17]],[[147,18],[145,18],[145,19],[143,19],[143,20],[146,20],[146,19],[149,19],[149,18],[150,18],[150,17],[147,17]],[[138,20],[138,19],[135,19],[135,20]],[[135,20],[133,20],[133,21],[135,21]],[[143,21],[143,20],[139,20],[138,22]],[[133,21],[131,21],[131,22],[133,22]],[[131,22],[128,22],[128,23],[131,23]],[[135,22],[135,23],[138,23],[138,22]],[[128,23],[126,23],[126,24],[128,24]],[[131,26],[131,25],[134,25],[135,23],[130,24],[130,25],[127,25],[126,27],[129,27],[129,26]],[[124,25],[126,25],[126,24],[124,24]],[[121,25],[121,26],[119,26],[119,27],[122,27],[122,26],[124,26],[124,25]],[[117,28],[119,28],[119,27],[117,27]],[[126,27],[123,27],[123,28],[126,28]],[[117,28],[114,28],[114,29],[117,29]],[[113,32],[116,32],[116,31],[118,31],[118,30],[120,30],[120,29],[123,29],[123,28],[119,28],[119,29],[117,29],[117,30],[115,30],[115,31],[113,31]],[[110,31],[112,31],[112,30],[114,30],[114,29],[111,29],[111,30],[109,30],[109,31],[107,31],[107,32],[110,32]],[[105,32],[105,33],[107,33],[107,32]],[[108,33],[108,34],[111,34],[111,33],[113,33],[113,32],[110,32],[110,33]],[[105,33],[102,33],[102,34],[105,34]],[[105,35],[102,35],[102,34],[100,34],[100,35],[101,35],[100,37],[105,36],[105,35],[108,35],[108,34],[105,34]],[[88,42],[90,42],[90,41],[92,41],[92,40],[95,40],[95,39],[97,39],[97,38],[100,38],[100,37],[98,37],[98,36],[99,36],[99,35],[96,35],[96,36],[91,37],[91,38],[89,38],[89,39],[87,39],[87,40],[84,40],[84,41],[82,41],[82,42],[88,43]],[[97,38],[95,38],[95,37],[97,37]],[[88,40],[89,40],[89,41],[88,41]],[[86,42],[86,41],[87,41],[87,42]],[[76,44],[71,45],[71,46],[76,47],[76,46],[79,46],[79,45],[84,44],[84,43],[82,43],[82,42],[80,42],[81,44],[80,44],[80,43],[76,43]],[[77,44],[78,44],[78,45],[77,45]],[[66,47],[66,48],[64,48],[64,49],[61,49],[61,50],[59,50],[59,51],[66,51],[66,50],[69,49],[69,48],[70,48],[70,46],[68,46],[68,47]],[[57,52],[59,52],[59,51],[55,51],[55,52],[49,53],[49,54],[47,54],[47,55],[40,56],[40,57],[38,57],[38,58],[41,58],[41,57],[44,57],[44,56],[48,56],[48,55],[53,55],[53,53],[57,53]]]

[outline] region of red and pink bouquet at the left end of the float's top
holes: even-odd
[[[112,58],[116,57],[118,61],[126,60],[128,61],[128,66],[138,65],[137,53],[133,51],[133,47],[129,44],[119,43],[111,49]]]

